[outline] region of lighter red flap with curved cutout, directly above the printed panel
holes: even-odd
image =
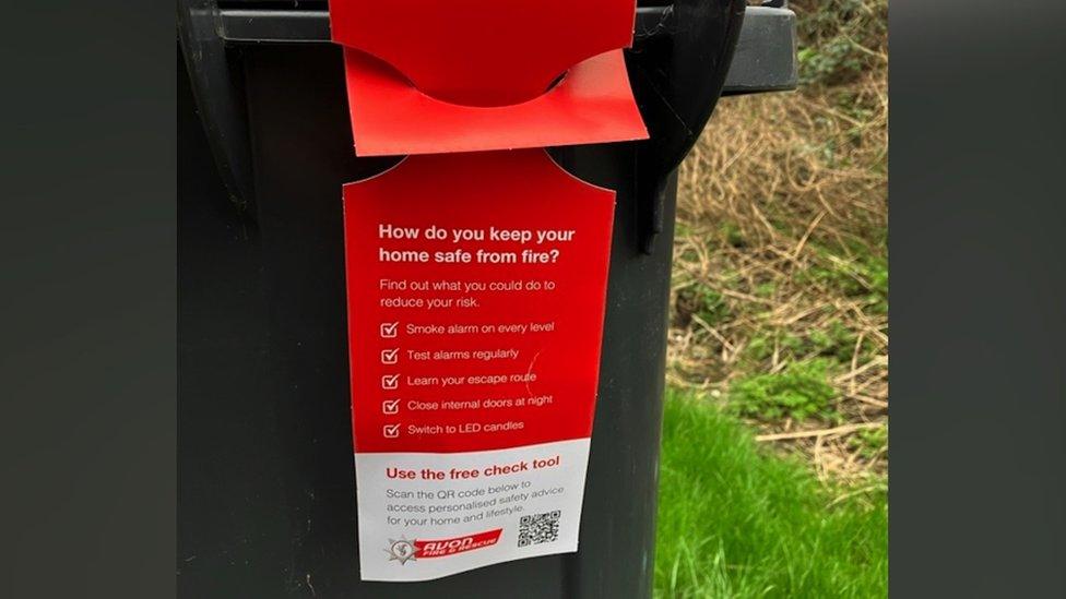
[[[346,48],[348,111],[359,156],[478,152],[644,140],[621,50],[570,69],[514,106],[460,106],[418,89],[389,64]]]

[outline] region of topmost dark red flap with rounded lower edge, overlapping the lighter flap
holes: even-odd
[[[332,0],[333,41],[391,64],[427,95],[520,104],[575,64],[632,41],[636,0]]]

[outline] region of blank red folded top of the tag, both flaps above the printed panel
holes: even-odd
[[[635,0],[334,0],[356,154],[647,139],[621,48]]]

